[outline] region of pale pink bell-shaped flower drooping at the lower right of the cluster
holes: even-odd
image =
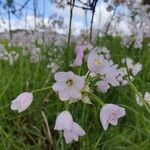
[[[118,119],[125,116],[125,109],[114,104],[105,104],[100,111],[100,121],[107,130],[109,123],[112,125],[118,124]]]

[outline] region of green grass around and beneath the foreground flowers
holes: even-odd
[[[119,38],[101,38],[95,45],[106,46],[111,50],[115,63],[120,64],[124,56],[129,56],[143,64],[143,70],[136,77],[134,85],[139,91],[150,92],[150,48],[149,40],[145,39],[142,50],[122,47]],[[70,59],[74,57],[73,45]],[[16,48],[18,50],[18,48]],[[52,89],[34,94],[34,101],[25,112],[18,114],[10,110],[10,107],[2,108],[10,104],[17,95],[23,91],[32,91],[54,83],[53,75],[47,69],[48,51],[53,59],[60,55],[58,63],[61,69],[66,68],[65,55],[57,52],[54,54],[54,46],[44,48],[42,59],[36,64],[31,64],[28,56],[22,56],[10,66],[7,62],[0,62],[0,149],[1,150],[149,150],[150,149],[150,119],[149,113],[144,107],[139,107],[135,102],[135,93],[129,86],[111,88],[106,94],[98,96],[105,103],[119,104],[126,108],[126,116],[118,126],[110,126],[107,131],[102,129],[99,121],[100,105],[94,101],[94,105],[86,105],[82,102],[74,103],[69,107],[73,118],[86,131],[86,136],[79,142],[65,144],[57,131],[54,131],[56,116],[63,111],[65,104],[62,103]],[[62,56],[62,57],[61,57]],[[73,69],[78,72],[78,68]],[[82,68],[85,72],[85,68]],[[42,116],[44,112],[49,129],[52,134],[53,145],[50,144],[48,128]],[[59,139],[59,140],[58,140]]]

